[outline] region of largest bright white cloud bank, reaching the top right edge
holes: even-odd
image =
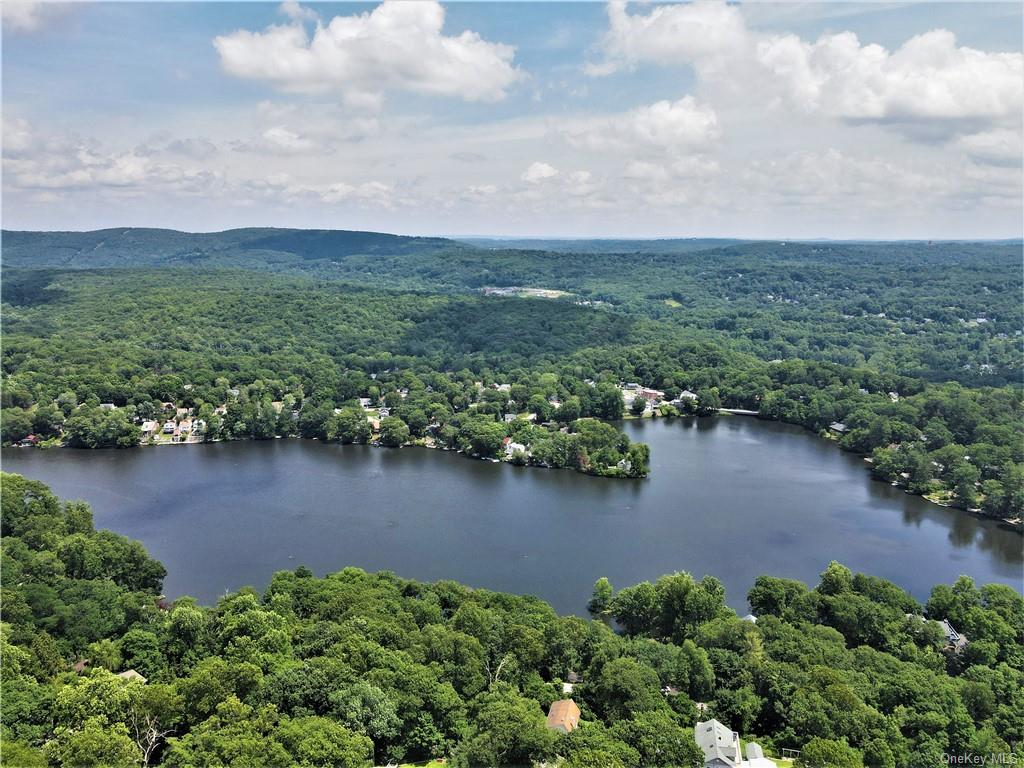
[[[1019,121],[1024,109],[1024,54],[958,46],[947,30],[890,51],[852,32],[814,42],[759,33],[724,3],[630,13],[613,2],[607,12],[605,58],[592,74],[642,61],[689,65],[703,85],[738,89],[750,103],[895,126],[930,140]]]

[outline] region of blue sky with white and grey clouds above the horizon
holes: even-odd
[[[1022,234],[1008,3],[16,3],[3,225]]]

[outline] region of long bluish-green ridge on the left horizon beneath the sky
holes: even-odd
[[[210,266],[306,270],[352,256],[402,256],[468,250],[443,238],[344,229],[228,229],[181,232],[125,227],[74,232],[3,231],[5,267]],[[313,262],[312,264],[302,262]]]

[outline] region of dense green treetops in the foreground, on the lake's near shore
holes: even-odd
[[[1024,759],[1024,599],[1006,586],[962,578],[922,605],[831,563],[813,589],[758,579],[755,622],[713,577],[676,572],[600,580],[587,621],[298,567],[262,593],[168,603],[163,566],[87,505],[0,479],[5,765],[696,767],[709,717],[807,766]],[[545,722],[565,696],[582,711],[568,735]]]

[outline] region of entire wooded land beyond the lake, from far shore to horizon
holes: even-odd
[[[612,390],[636,382],[664,392],[648,415],[756,411],[911,493],[1024,515],[1018,244],[653,248],[8,232],[4,439],[131,445],[184,407],[205,439],[420,443],[641,476],[645,447],[588,421],[621,418]],[[369,432],[359,398],[387,409]]]

